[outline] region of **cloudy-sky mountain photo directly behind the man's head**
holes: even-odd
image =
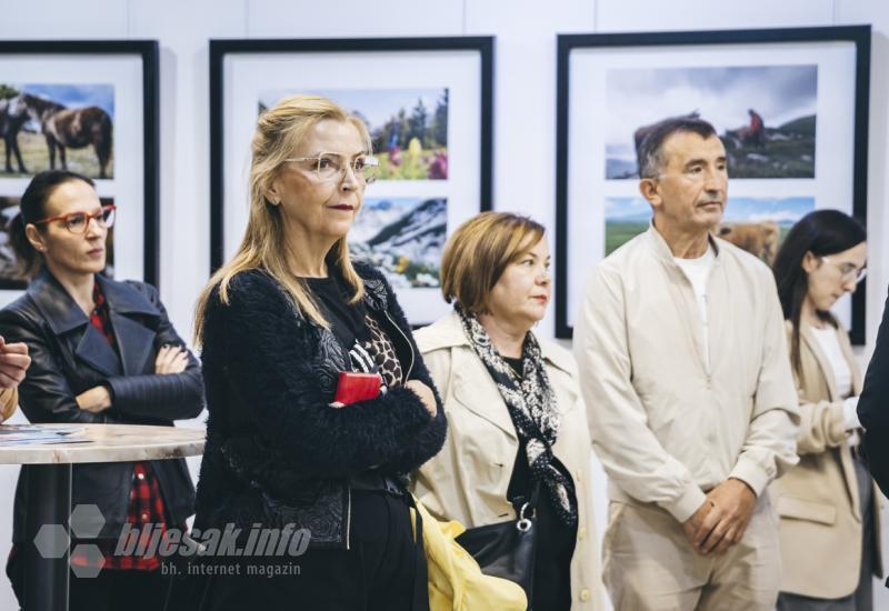
[[[813,178],[817,66],[609,70],[606,100],[607,179],[638,176],[640,129],[690,113],[726,141],[733,178]],[[765,123],[758,140],[751,110]]]

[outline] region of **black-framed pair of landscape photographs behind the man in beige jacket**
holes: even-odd
[[[870,27],[558,38],[556,330],[570,338],[590,270],[646,231],[637,148],[700,117],[726,146],[716,233],[771,263],[802,216],[867,223]],[[865,283],[836,313],[865,341]]]

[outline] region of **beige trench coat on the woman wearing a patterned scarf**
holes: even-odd
[[[416,338],[444,402],[448,440],[412,478],[414,493],[436,518],[458,520],[467,528],[515,520],[507,488],[519,440],[493,380],[470,347],[457,314],[419,330]],[[547,341],[540,345],[561,411],[553,453],[577,488],[579,524],[571,561],[571,608],[599,611],[603,609],[603,588],[592,518],[587,410],[571,355]]]

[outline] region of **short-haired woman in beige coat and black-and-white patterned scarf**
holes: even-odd
[[[450,423],[441,452],[413,478],[441,520],[467,528],[516,520],[539,483],[531,608],[601,609],[590,495],[591,443],[569,353],[531,328],[550,299],[543,228],[486,212],[444,248],[455,311],[416,333]]]

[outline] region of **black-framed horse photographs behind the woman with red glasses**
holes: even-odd
[[[156,41],[0,41],[0,307],[27,287],[9,221],[48,169],[117,206],[106,272],[158,283],[158,106]]]

